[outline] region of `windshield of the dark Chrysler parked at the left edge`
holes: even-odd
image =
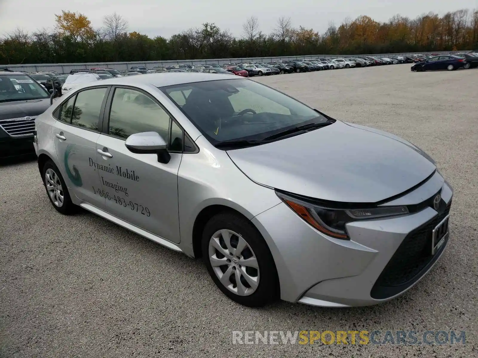
[[[40,84],[28,76],[22,74],[0,76],[0,102],[41,99],[49,96],[50,94]]]

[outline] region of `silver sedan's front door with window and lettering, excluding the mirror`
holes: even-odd
[[[156,154],[131,153],[125,146],[127,137],[141,132],[157,132],[167,141],[170,116],[141,90],[117,87],[108,119],[108,130],[97,141],[99,161],[111,168],[99,173],[106,210],[163,239],[180,242],[177,173],[182,154],[171,153],[164,164]]]

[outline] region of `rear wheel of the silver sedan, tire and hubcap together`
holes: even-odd
[[[60,170],[52,160],[48,160],[42,168],[43,186],[46,190],[46,195],[53,207],[59,213],[70,215],[75,213],[77,207],[71,201],[70,193],[66,187],[65,180],[60,174]],[[56,185],[56,187],[55,187]],[[63,195],[63,202],[61,197]]]

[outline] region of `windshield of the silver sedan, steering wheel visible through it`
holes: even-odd
[[[247,79],[160,89],[213,145],[236,139],[260,140],[285,128],[327,122],[312,108]]]

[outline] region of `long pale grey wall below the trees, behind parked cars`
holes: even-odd
[[[432,54],[438,52],[421,52],[420,54]],[[286,57],[254,57],[254,58],[220,58],[220,59],[207,59],[207,60],[180,60],[180,61],[146,61],[146,62],[94,62],[94,63],[37,63],[37,64],[11,64],[11,65],[0,65],[0,67],[7,67],[13,71],[27,71],[27,72],[36,72],[36,71],[49,71],[53,70],[60,74],[69,73],[72,69],[76,68],[94,68],[94,67],[113,67],[117,70],[126,70],[131,66],[145,66],[151,68],[157,65],[167,65],[167,64],[203,64],[203,63],[218,63],[220,65],[224,63],[244,63],[250,61],[257,62],[274,62],[279,60],[304,60],[305,58],[343,58],[343,57],[355,57],[355,56],[375,56],[375,57],[391,57],[391,56],[410,56],[413,54],[419,53],[376,53],[369,55],[305,55],[305,56],[286,56]]]

